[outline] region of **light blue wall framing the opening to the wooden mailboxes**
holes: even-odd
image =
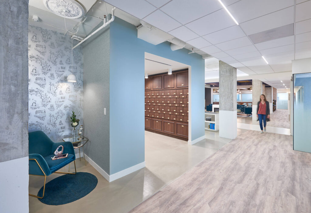
[[[145,52],[191,66],[191,138],[205,134],[202,56],[138,39],[136,27],[116,17],[110,24],[110,174],[145,161]]]

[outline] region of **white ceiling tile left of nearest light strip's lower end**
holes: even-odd
[[[235,25],[235,23],[227,12],[224,9],[220,9],[200,19],[190,22],[185,26],[203,36],[233,25]]]

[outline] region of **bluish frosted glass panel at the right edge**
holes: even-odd
[[[294,150],[311,153],[311,73],[294,74]]]

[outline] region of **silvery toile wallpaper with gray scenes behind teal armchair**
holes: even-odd
[[[67,35],[29,25],[28,57],[28,129],[42,130],[52,141],[60,142],[72,135],[72,111],[80,119],[79,126],[83,123],[81,46],[73,50],[71,62],[71,39]],[[71,72],[77,76],[76,83],[67,82]]]

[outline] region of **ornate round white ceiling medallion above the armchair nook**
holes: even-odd
[[[52,13],[67,19],[77,19],[84,15],[84,9],[75,0],[43,0]]]

